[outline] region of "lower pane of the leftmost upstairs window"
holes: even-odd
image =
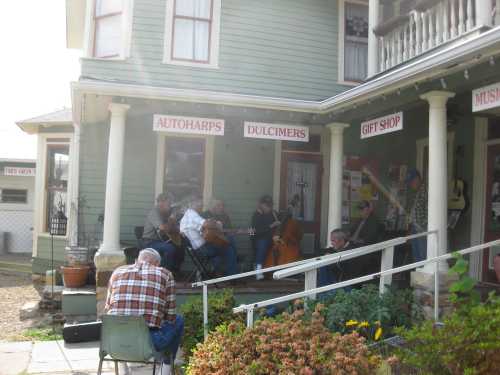
[[[122,16],[96,20],[95,57],[120,55],[122,47]]]

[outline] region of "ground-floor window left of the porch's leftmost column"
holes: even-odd
[[[49,141],[49,140],[48,140]],[[59,211],[68,216],[68,177],[69,177],[69,140],[68,143],[47,144],[47,170],[45,176],[45,231],[49,231],[52,217]]]

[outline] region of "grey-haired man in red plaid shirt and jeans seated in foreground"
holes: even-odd
[[[160,254],[154,249],[140,252],[133,265],[117,268],[109,279],[105,311],[110,315],[144,316],[157,351],[171,352],[175,358],[184,320],[175,314],[175,281],[172,273],[160,267]],[[162,373],[170,373],[169,359]]]

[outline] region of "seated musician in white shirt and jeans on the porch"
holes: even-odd
[[[189,208],[184,213],[180,222],[180,231],[191,242],[193,250],[211,259],[216,270],[220,270],[224,263],[223,274],[225,276],[238,273],[236,259],[236,249],[228,244],[225,247],[216,246],[206,242],[202,235],[204,226],[208,224],[209,219],[201,216],[203,202],[198,197],[191,199]]]

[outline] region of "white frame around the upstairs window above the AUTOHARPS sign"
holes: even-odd
[[[191,66],[197,68],[219,68],[219,42],[220,42],[220,18],[221,0],[212,0],[212,29],[210,30],[210,46],[208,63],[176,60],[172,58],[172,35],[174,27],[174,0],[167,0],[165,15],[165,35],[163,38],[163,63],[171,65]]]

